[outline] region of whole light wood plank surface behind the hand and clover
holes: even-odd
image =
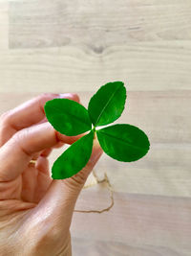
[[[190,256],[191,0],[0,1],[1,113],[42,92],[77,92],[87,106],[108,81],[128,91],[116,123],[142,128],[151,150],[132,163],[99,160],[115,205],[74,213],[73,255]],[[109,203],[98,185],[76,209]]]

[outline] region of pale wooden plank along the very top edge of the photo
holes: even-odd
[[[101,53],[129,41],[191,39],[190,0],[11,2],[11,48],[88,45]]]

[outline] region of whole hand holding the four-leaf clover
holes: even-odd
[[[84,134],[66,136],[47,122],[43,94],[0,119],[0,255],[72,255],[70,225],[75,201],[102,150],[94,140],[87,165],[73,177],[55,180],[47,156]],[[75,94],[65,94],[79,102]],[[36,159],[36,163],[30,161]]]

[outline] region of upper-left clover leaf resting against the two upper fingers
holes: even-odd
[[[53,99],[44,106],[48,121],[60,133],[75,136],[92,128],[88,110],[69,99]]]

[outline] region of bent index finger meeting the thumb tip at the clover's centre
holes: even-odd
[[[1,148],[0,181],[9,181],[22,174],[34,153],[52,148],[59,141],[72,144],[84,134],[66,136],[57,132],[49,122],[19,130]]]

